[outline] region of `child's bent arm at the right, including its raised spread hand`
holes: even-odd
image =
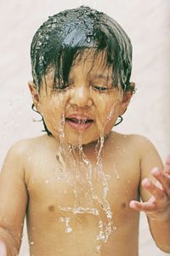
[[[143,202],[131,201],[130,207],[146,213],[156,245],[170,253],[170,157],[163,167],[156,149],[149,142],[143,147],[141,180]]]

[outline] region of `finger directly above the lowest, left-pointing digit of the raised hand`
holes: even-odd
[[[149,178],[144,178],[142,181],[142,186],[144,189],[147,189],[150,194],[156,198],[156,200],[163,200],[166,198],[165,192],[158,188],[156,184],[151,183]]]

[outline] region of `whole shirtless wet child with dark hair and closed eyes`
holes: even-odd
[[[139,212],[170,253],[170,157],[111,131],[133,95],[132,46],[87,7],[49,17],[31,44],[41,137],[9,149],[0,177],[0,251],[17,255],[26,216],[31,256],[137,256]],[[139,199],[142,201],[139,201]]]

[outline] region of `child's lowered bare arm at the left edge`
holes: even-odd
[[[16,143],[10,148],[0,174],[0,252],[2,250],[8,256],[16,256],[20,250],[26,214],[27,192],[21,147],[22,143]]]

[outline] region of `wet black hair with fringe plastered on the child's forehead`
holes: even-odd
[[[106,65],[113,68],[113,84],[133,90],[130,84],[132,44],[122,27],[108,15],[89,7],[67,9],[48,17],[31,43],[31,67],[37,90],[42,76],[54,67],[54,79],[65,87],[77,56],[85,49],[105,51]]]

